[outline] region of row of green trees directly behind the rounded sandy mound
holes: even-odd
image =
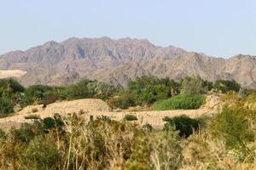
[[[37,102],[38,104],[49,105],[59,99],[108,99],[114,94],[115,90],[107,82],[96,82],[87,79],[63,87],[33,85],[26,88],[23,103],[25,105],[31,105],[33,102]]]

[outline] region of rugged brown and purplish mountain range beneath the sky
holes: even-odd
[[[213,58],[172,46],[154,46],[147,40],[108,37],[46,42],[0,56],[0,70],[27,72],[19,78],[25,85],[67,84],[88,77],[123,86],[143,75],[174,79],[199,75],[210,81],[235,79],[243,86],[256,87],[255,65],[253,56]]]

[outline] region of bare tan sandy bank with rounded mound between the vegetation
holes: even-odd
[[[218,103],[220,97],[218,95],[210,95],[207,97],[207,102],[198,110],[172,110],[172,111],[110,111],[108,105],[101,99],[78,99],[73,101],[64,101],[47,105],[30,105],[22,111],[17,112],[14,116],[9,116],[0,119],[0,128],[6,130],[10,127],[19,127],[22,122],[31,122],[25,119],[25,116],[37,115],[41,118],[53,116],[59,113],[61,116],[67,116],[70,113],[84,112],[84,116],[110,116],[114,120],[121,120],[126,114],[134,114],[137,116],[137,123],[140,125],[146,122],[153,127],[163,127],[162,119],[165,116],[180,116],[186,115],[189,117],[198,117],[211,115],[218,111]],[[36,112],[35,112],[36,111]],[[33,113],[34,112],[34,113]]]

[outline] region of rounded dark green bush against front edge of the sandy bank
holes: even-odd
[[[174,117],[165,117],[163,119],[166,122],[164,129],[168,130],[171,127],[174,127],[179,133],[180,137],[188,138],[193,131],[197,131],[200,127],[200,121],[197,119],[192,119],[189,116],[174,116]]]

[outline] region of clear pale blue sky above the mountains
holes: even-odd
[[[147,38],[220,57],[256,55],[256,1],[0,0],[0,54],[103,36]]]

